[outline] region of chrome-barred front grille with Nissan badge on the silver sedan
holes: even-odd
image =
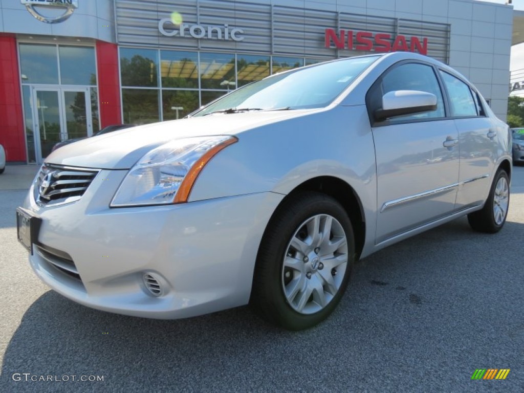
[[[78,201],[98,172],[96,169],[44,165],[35,182],[35,201],[40,206]]]

